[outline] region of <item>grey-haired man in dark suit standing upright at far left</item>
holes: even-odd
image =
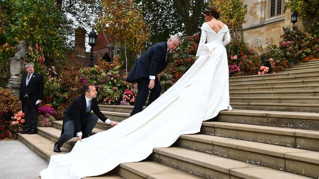
[[[43,100],[43,76],[34,72],[32,64],[26,64],[27,74],[22,76],[19,100],[22,111],[25,113],[26,122],[21,134],[36,134],[38,124],[38,104]]]

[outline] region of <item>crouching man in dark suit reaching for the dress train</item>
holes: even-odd
[[[82,94],[75,98],[63,113],[62,132],[58,141],[54,144],[54,152],[60,152],[63,143],[75,136],[78,136],[80,141],[88,137],[98,119],[111,126],[117,125],[117,122],[110,121],[100,111],[96,100],[97,91],[93,83],[83,84],[81,90]],[[90,113],[92,110],[94,114]]]

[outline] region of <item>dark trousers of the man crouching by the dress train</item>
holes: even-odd
[[[66,116],[63,116],[66,117]],[[82,136],[87,134],[91,134],[94,126],[98,122],[98,116],[92,113],[88,113],[81,119],[81,132]],[[70,119],[65,124],[63,123],[63,134],[57,140],[57,143],[61,147],[64,142],[70,140],[71,138],[75,137],[76,134],[74,133],[74,120]]]

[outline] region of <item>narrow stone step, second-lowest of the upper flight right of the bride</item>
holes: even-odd
[[[231,103],[319,104],[318,96],[230,97]]]

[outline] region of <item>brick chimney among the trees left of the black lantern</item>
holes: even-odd
[[[85,35],[86,30],[79,27],[75,29],[75,42],[74,42],[74,50],[77,51],[77,55],[85,56]]]

